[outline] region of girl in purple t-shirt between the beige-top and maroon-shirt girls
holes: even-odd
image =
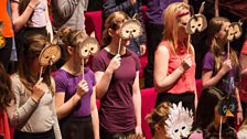
[[[79,49],[87,34],[79,30],[62,28],[65,64],[55,73],[56,113],[64,139],[99,139],[98,110],[96,107],[94,73],[83,67]],[[88,50],[89,51],[89,50]]]

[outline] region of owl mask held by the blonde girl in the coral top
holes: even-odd
[[[186,24],[186,32],[189,34],[194,34],[196,31],[202,32],[207,26],[206,18],[202,14],[204,10],[204,3],[202,3],[200,8],[200,12],[197,14],[192,15]]]

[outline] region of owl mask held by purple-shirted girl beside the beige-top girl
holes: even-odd
[[[82,58],[87,58],[99,51],[99,44],[96,39],[87,38],[79,45],[79,54]]]

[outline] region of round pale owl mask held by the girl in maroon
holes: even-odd
[[[124,40],[137,39],[142,34],[141,23],[136,19],[125,21],[119,31]]]

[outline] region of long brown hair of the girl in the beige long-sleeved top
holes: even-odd
[[[18,74],[22,84],[32,92],[33,86],[36,84],[39,78],[33,79],[30,75],[32,70],[33,60],[40,55],[41,51],[51,45],[47,38],[41,34],[34,34],[28,38],[26,42],[23,45],[23,52],[20,55],[18,63]],[[54,95],[54,88],[51,81],[51,70],[47,66],[42,74],[43,82],[49,86],[52,94]]]

